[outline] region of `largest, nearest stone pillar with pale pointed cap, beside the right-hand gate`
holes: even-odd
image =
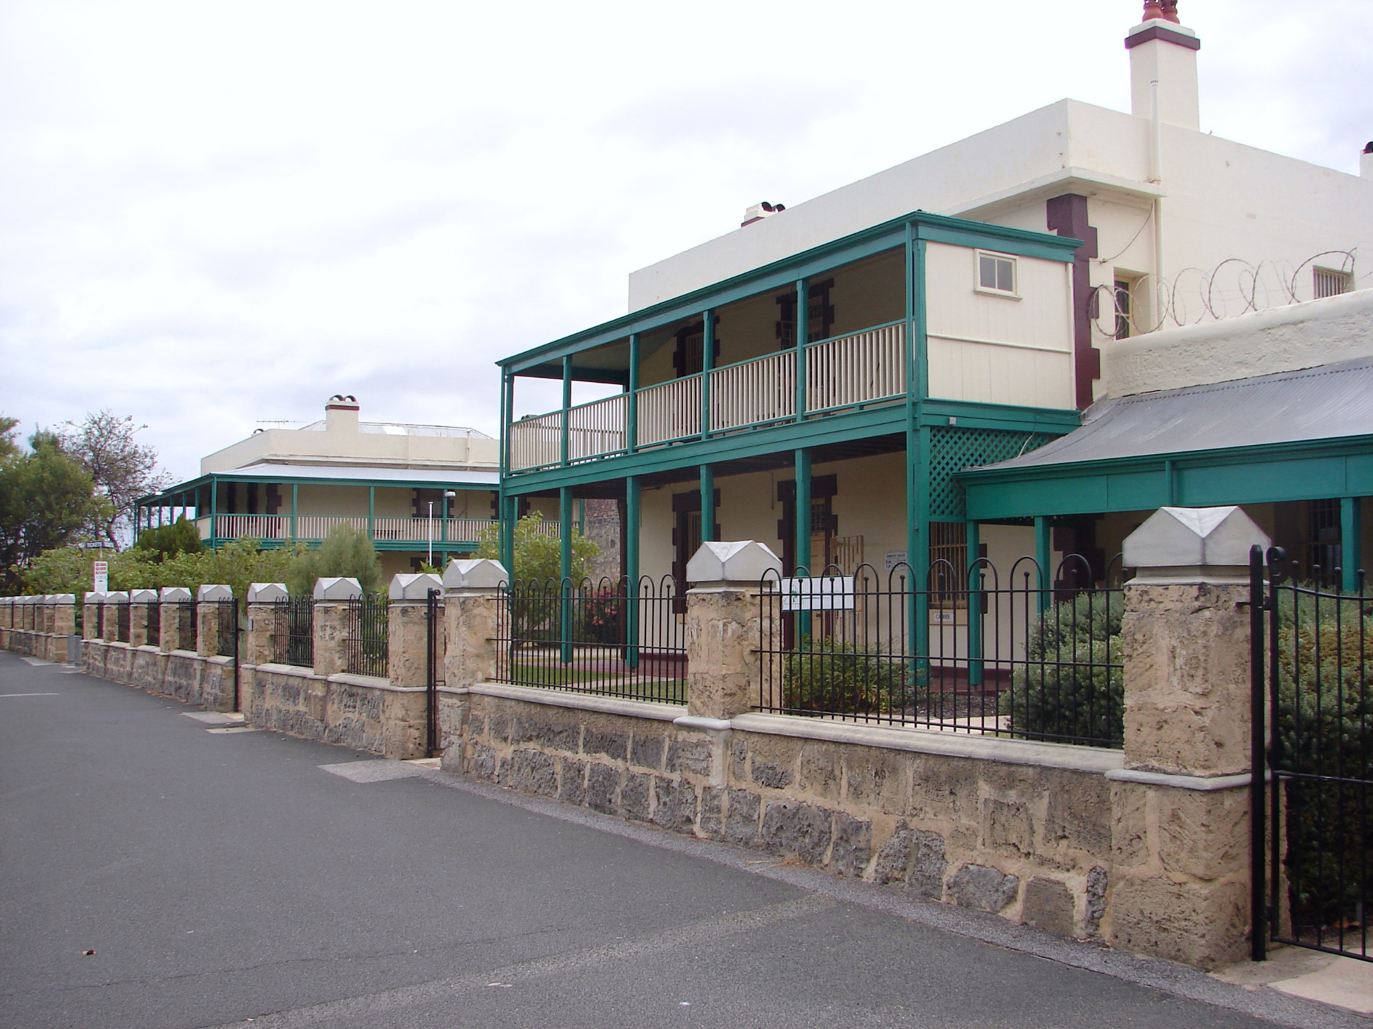
[[[1103,932],[1211,969],[1248,955],[1249,547],[1238,508],[1162,508],[1124,541],[1124,767]]]

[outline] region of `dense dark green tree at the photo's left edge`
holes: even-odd
[[[38,554],[74,541],[108,506],[91,491],[91,476],[52,432],[29,439],[30,453],[0,461],[0,568],[14,590]]]

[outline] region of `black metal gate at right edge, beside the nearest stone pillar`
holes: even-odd
[[[1249,556],[1256,960],[1270,940],[1373,960],[1373,594],[1333,572]]]

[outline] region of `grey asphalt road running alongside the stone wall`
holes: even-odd
[[[1369,1026],[0,654],[0,1026]]]

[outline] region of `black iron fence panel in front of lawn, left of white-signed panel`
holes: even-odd
[[[685,619],[671,576],[516,582],[497,617],[497,678],[686,702]]]

